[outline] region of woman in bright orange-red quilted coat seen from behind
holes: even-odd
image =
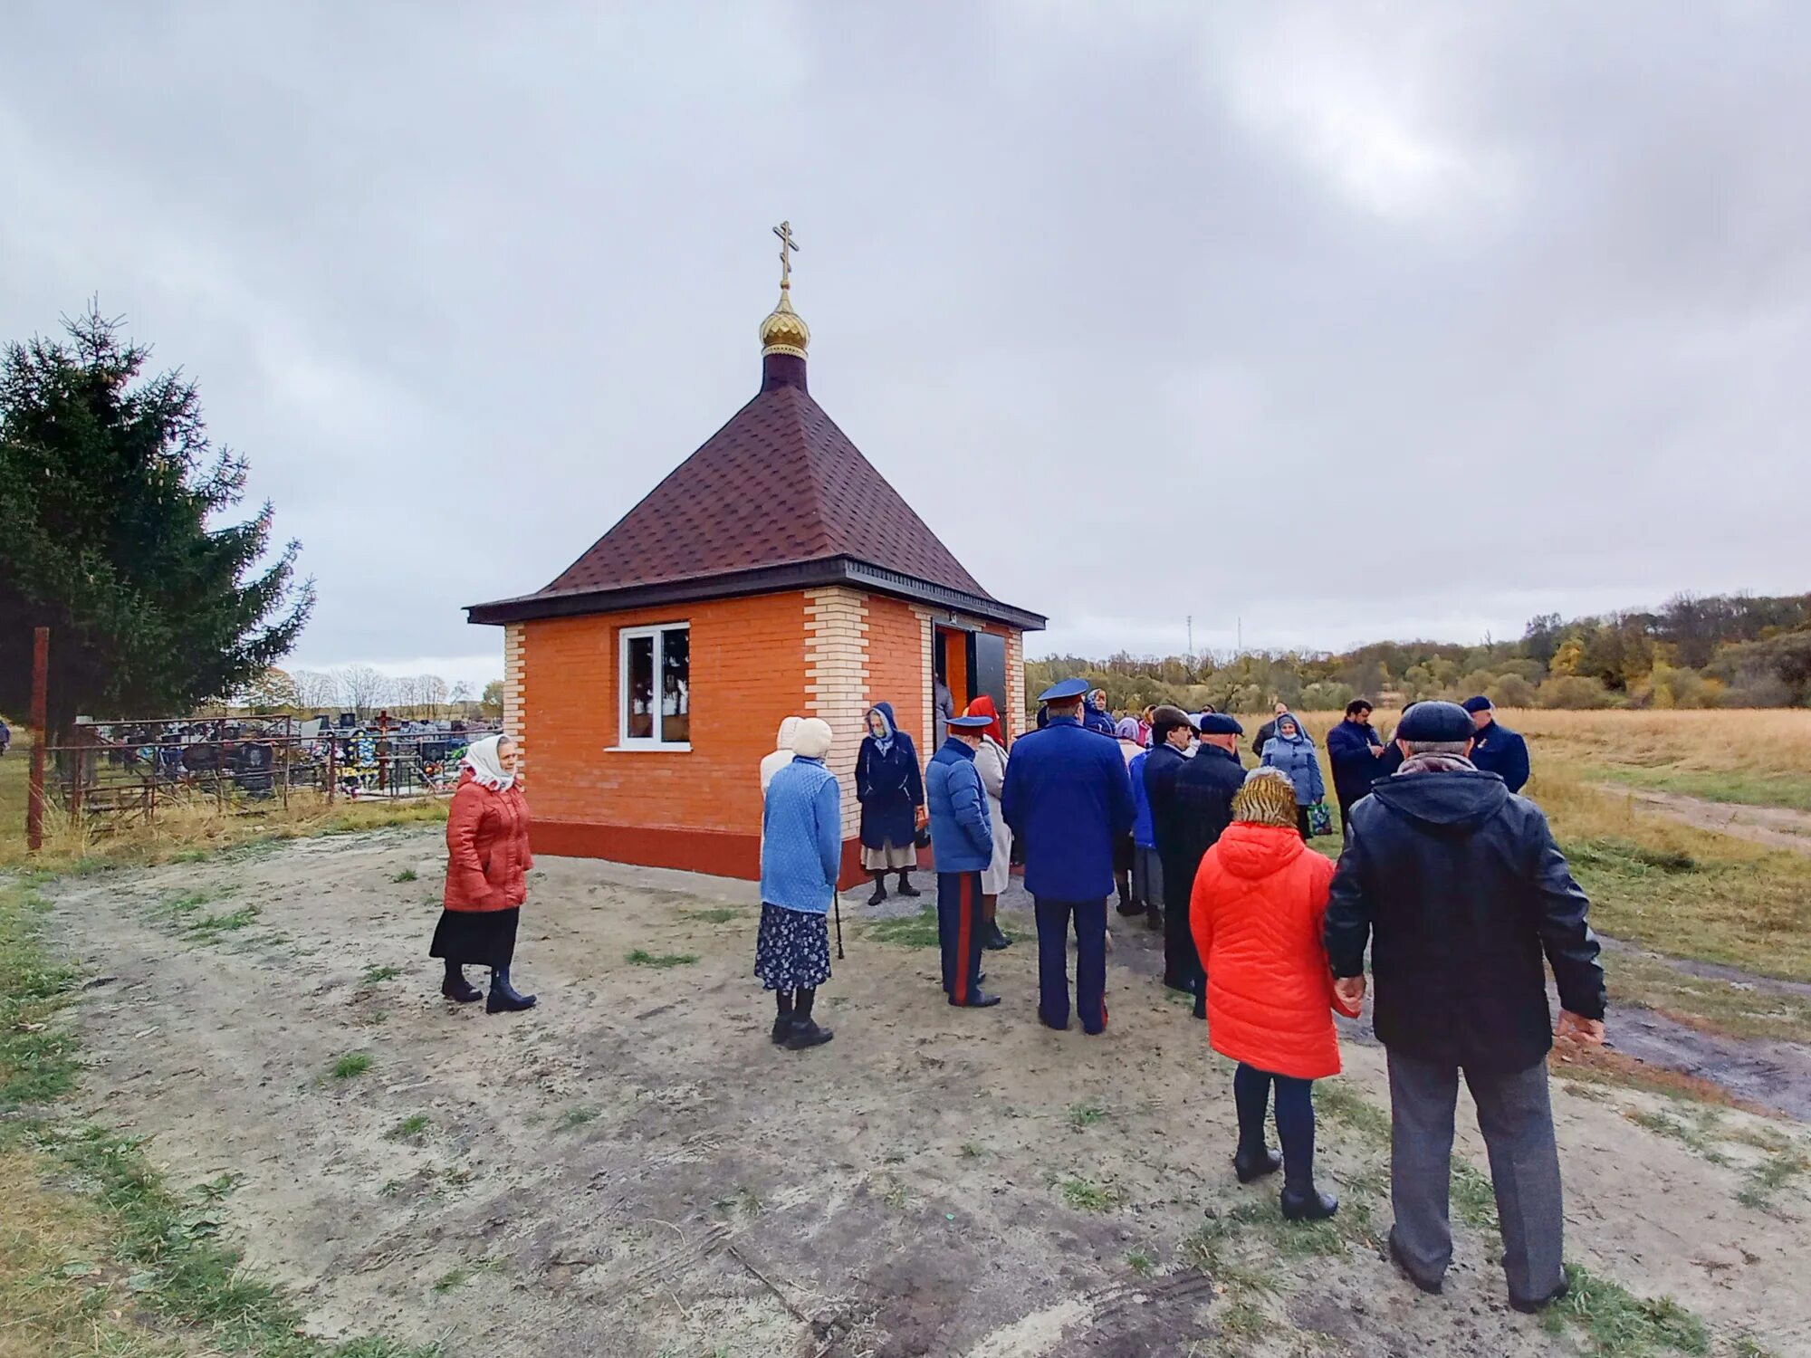
[[[1313,1083],[1340,1070],[1333,971],[1320,942],[1331,882],[1333,864],[1302,844],[1289,777],[1259,768],[1233,797],[1233,824],[1203,856],[1188,902],[1208,969],[1208,1039],[1239,1063],[1233,1170],[1242,1184],[1282,1170],[1289,1220],[1338,1210],[1338,1199],[1315,1188]],[[1271,1086],[1282,1155],[1264,1139]]]

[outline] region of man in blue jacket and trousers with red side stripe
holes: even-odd
[[[944,994],[960,1009],[987,1009],[1000,1003],[1000,996],[982,990],[982,871],[994,858],[994,824],[974,751],[992,717],[951,717],[947,724],[949,737],[924,773]]]

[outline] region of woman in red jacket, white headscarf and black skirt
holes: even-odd
[[[529,802],[516,779],[516,742],[507,735],[473,741],[462,760],[447,811],[447,885],[427,956],[442,958],[447,976],[440,994],[458,1003],[480,998],[465,967],[491,969],[485,1012],[532,1009],[534,996],[509,983],[516,956],[516,923],[529,898]]]

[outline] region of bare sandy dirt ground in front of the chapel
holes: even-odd
[[[422,956],[440,862],[433,831],[386,831],[49,889],[92,974],[87,1110],[176,1184],[235,1175],[230,1233],[322,1333],[451,1358],[1576,1353],[1505,1307],[1487,1226],[1458,1226],[1443,1298],[1382,1258],[1375,1048],[1320,1094],[1338,1226],[1239,1188],[1230,1068],[1137,931],[1090,1039],[1036,1023],[1021,914],[987,961],[1007,1001],[953,1010],[934,951],[846,913],[837,1039],[788,1054],[743,884],[541,860],[516,967],[541,1005],[487,1018]],[[335,1079],[350,1052],[369,1070]],[[1811,1351],[1802,1128],[1565,1083],[1556,1112],[1570,1257],[1675,1296],[1719,1353]]]

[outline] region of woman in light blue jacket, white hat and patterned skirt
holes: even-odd
[[[824,914],[842,869],[842,789],[824,768],[831,730],[806,717],[793,757],[768,784],[761,808],[761,934],[755,976],[773,992],[773,1043],[791,1052],[822,1047],[829,1028],[811,1018],[817,987],[829,980]]]

